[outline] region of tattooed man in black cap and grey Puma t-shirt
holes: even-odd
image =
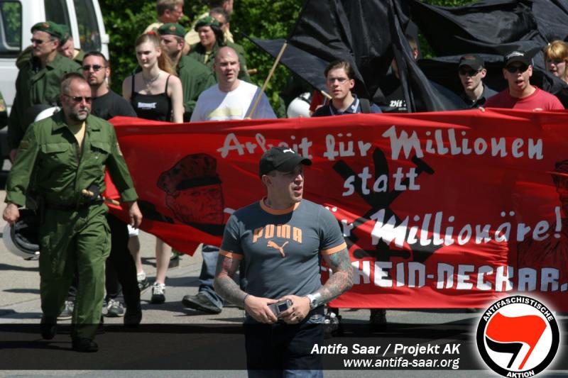
[[[259,176],[266,197],[235,211],[226,223],[214,287],[246,311],[245,348],[249,377],[267,371],[303,370],[321,377],[322,360],[312,354],[323,342],[324,304],[353,284],[349,252],[332,213],[303,199],[304,165],[312,162],[291,148],[261,157]],[[241,261],[246,291],[234,281]],[[321,260],[333,274],[321,284]],[[282,303],[281,303],[282,302]],[[278,310],[271,309],[276,305]]]

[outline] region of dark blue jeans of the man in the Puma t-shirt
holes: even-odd
[[[323,307],[298,324],[262,324],[247,316],[244,324],[249,378],[323,377],[322,356],[311,351],[323,345]]]

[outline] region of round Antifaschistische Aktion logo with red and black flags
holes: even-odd
[[[560,342],[552,310],[530,296],[499,299],[481,316],[477,348],[503,377],[532,377],[554,360]]]

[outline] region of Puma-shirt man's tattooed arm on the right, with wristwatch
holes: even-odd
[[[351,260],[346,248],[323,257],[333,274],[320,289],[312,293],[321,295],[320,304],[326,304],[332,299],[336,299],[353,286]],[[280,298],[280,300],[283,299],[290,299],[294,304],[292,308],[282,313],[282,318],[286,323],[297,323],[310,312],[310,299],[307,299],[306,296],[287,295]]]

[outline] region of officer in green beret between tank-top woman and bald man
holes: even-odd
[[[183,120],[189,122],[197,98],[205,89],[217,84],[215,75],[206,65],[183,55],[185,29],[179,23],[165,23],[158,28],[162,49],[170,56],[183,89]]]

